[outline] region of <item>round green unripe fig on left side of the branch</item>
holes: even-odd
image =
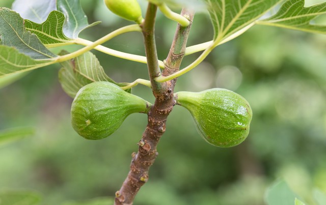
[[[114,133],[131,113],[147,112],[150,103],[111,82],[82,87],[71,105],[74,130],[86,139],[102,139]]]

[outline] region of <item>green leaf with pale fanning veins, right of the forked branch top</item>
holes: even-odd
[[[205,0],[214,28],[214,45],[231,40],[283,0]]]

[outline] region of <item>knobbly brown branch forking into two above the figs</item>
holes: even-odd
[[[175,105],[173,99],[173,90],[176,83],[176,79],[165,82],[164,84],[158,84],[154,81],[155,75],[157,75],[158,64],[156,47],[153,50],[154,41],[154,20],[148,20],[148,16],[151,16],[156,9],[154,5],[149,4],[147,10],[145,23],[143,27],[145,49],[148,61],[149,75],[155,87],[153,87],[153,94],[155,96],[155,103],[151,110],[148,112],[148,124],[143,133],[143,137],[139,142],[138,153],[132,154],[132,160],[130,165],[130,171],[126,180],[124,181],[121,189],[116,192],[115,204],[132,204],[135,195],[138,193],[141,186],[143,186],[148,180],[148,171],[150,166],[154,163],[158,153],[156,151],[157,143],[160,137],[164,134],[166,129],[166,120],[169,113],[172,111]],[[152,12],[152,13],[148,13]],[[186,16],[190,21],[193,20],[194,12],[183,9],[181,15]],[[146,23],[147,21],[147,23]],[[149,23],[149,22],[152,23]],[[184,56],[186,41],[191,28],[191,24],[187,27],[181,27],[178,25],[176,34],[166,59],[166,69],[163,75],[169,75],[179,70],[182,58]],[[151,41],[146,42],[146,41]],[[155,60],[156,56],[156,60]],[[164,85],[164,86],[162,86]]]

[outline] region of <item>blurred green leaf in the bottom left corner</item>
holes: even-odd
[[[41,197],[30,191],[2,191],[0,205],[37,205]]]

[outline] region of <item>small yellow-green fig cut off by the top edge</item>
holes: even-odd
[[[142,23],[142,10],[137,0],[104,0],[110,11],[129,21]]]

